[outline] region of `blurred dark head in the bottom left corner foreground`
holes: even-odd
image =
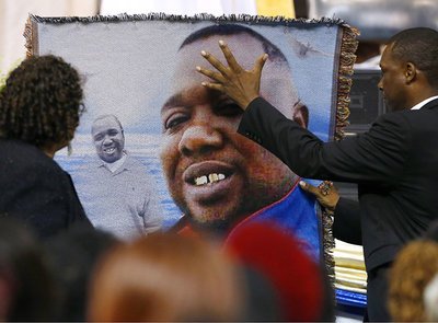
[[[0,321],[51,320],[53,281],[36,235],[0,218]]]

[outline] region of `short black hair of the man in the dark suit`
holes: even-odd
[[[438,86],[438,32],[418,27],[400,32],[388,44],[394,44],[392,55],[404,62],[412,62],[423,71],[433,86]]]

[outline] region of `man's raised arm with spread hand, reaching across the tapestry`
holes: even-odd
[[[323,142],[258,96],[265,55],[247,71],[235,62],[226,44],[221,49],[229,67],[203,53],[218,71],[197,70],[214,80],[204,82],[205,86],[222,91],[245,108],[239,134],[262,145],[302,177],[355,183],[399,181],[413,145],[404,115],[382,115],[361,136]]]

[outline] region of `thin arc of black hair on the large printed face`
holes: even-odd
[[[286,62],[287,66],[289,66],[286,56],[277,46],[275,46],[267,38],[258,34],[257,32],[253,31],[252,28],[239,24],[218,24],[200,28],[191,34],[187,38],[185,38],[183,44],[181,44],[180,49],[188,44],[195,43],[198,39],[207,38],[212,35],[237,35],[237,34],[249,34],[252,37],[258,39],[262,43],[263,50],[267,55],[269,55],[269,60],[280,60]]]

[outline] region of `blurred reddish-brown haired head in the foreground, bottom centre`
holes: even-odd
[[[90,321],[241,321],[237,268],[206,242],[155,233],[105,256],[94,273]]]

